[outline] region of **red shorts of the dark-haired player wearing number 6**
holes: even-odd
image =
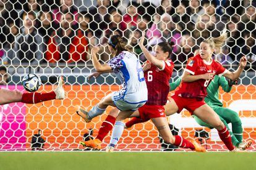
[[[138,110],[142,119],[166,117],[162,105],[143,105]]]

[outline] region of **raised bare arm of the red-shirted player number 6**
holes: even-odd
[[[140,42],[139,42],[140,49],[142,49],[143,54],[145,55],[145,57],[147,58],[147,60],[150,63],[153,63],[153,65],[155,65],[160,70],[162,70],[164,67],[163,60],[158,60],[158,59],[156,59],[156,57],[154,57],[152,54],[150,54],[150,52],[147,50],[147,48],[143,45],[144,40],[145,40],[145,31],[143,31],[142,38],[140,39]]]

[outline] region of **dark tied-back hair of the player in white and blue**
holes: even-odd
[[[115,56],[120,54],[122,51],[129,51],[129,49],[126,47],[124,39],[122,39],[122,37],[119,35],[113,35],[109,37],[108,44],[116,51],[114,54]]]

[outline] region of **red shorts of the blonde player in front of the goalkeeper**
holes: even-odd
[[[180,97],[176,94],[174,94],[171,98],[174,100],[177,107],[179,108],[178,113],[180,113],[183,108],[186,108],[190,112],[190,114],[193,115],[195,109],[205,104],[205,101],[203,99],[185,98]]]

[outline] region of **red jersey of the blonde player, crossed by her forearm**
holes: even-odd
[[[228,70],[220,63],[211,59],[210,62],[203,60],[200,55],[195,55],[187,61],[184,71],[191,75],[203,75],[205,73],[213,73],[215,75],[224,75]],[[179,89],[175,92],[176,95],[186,98],[202,98],[207,95],[207,86],[211,80],[198,79],[193,82],[182,82]]]

